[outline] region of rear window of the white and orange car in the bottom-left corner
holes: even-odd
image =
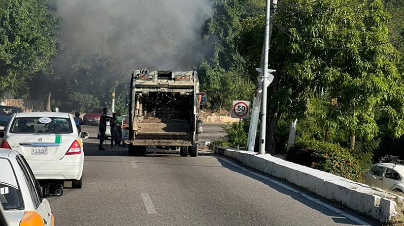
[[[5,210],[22,209],[23,202],[11,163],[0,159],[0,202]]]

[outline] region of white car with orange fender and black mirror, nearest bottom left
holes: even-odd
[[[54,226],[54,217],[45,196],[61,196],[63,186],[40,187],[25,160],[17,151],[0,149],[0,202],[9,226]]]

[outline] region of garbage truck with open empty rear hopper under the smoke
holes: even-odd
[[[155,146],[197,157],[203,132],[200,102],[196,71],[134,70],[124,139],[128,154],[145,155],[147,147]]]

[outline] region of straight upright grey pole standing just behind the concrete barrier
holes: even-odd
[[[266,129],[267,129],[267,95],[268,95],[268,86],[269,86],[269,73],[268,73],[268,64],[269,64],[269,23],[270,23],[270,1],[267,0],[267,13],[265,16],[265,41],[264,41],[264,64],[262,68],[263,75],[263,85],[262,85],[262,114],[261,114],[261,137],[260,137],[260,155],[265,155],[265,138],[266,138]]]

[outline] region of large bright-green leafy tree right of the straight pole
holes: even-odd
[[[372,139],[377,134],[373,111],[388,112],[396,135],[403,133],[397,98],[403,85],[395,65],[399,57],[388,43],[383,23],[387,19],[379,0],[355,4],[348,0],[288,0],[279,4],[269,56],[270,67],[277,70],[269,87],[269,153],[274,153],[281,115],[302,118],[315,88],[322,86],[328,90],[329,103],[336,103],[329,105],[330,112],[339,112],[328,121],[352,136]],[[241,40],[253,42],[241,45],[242,54],[254,62],[262,48],[254,37],[263,33],[264,23],[260,17],[247,20]],[[395,111],[388,111],[389,107]]]

